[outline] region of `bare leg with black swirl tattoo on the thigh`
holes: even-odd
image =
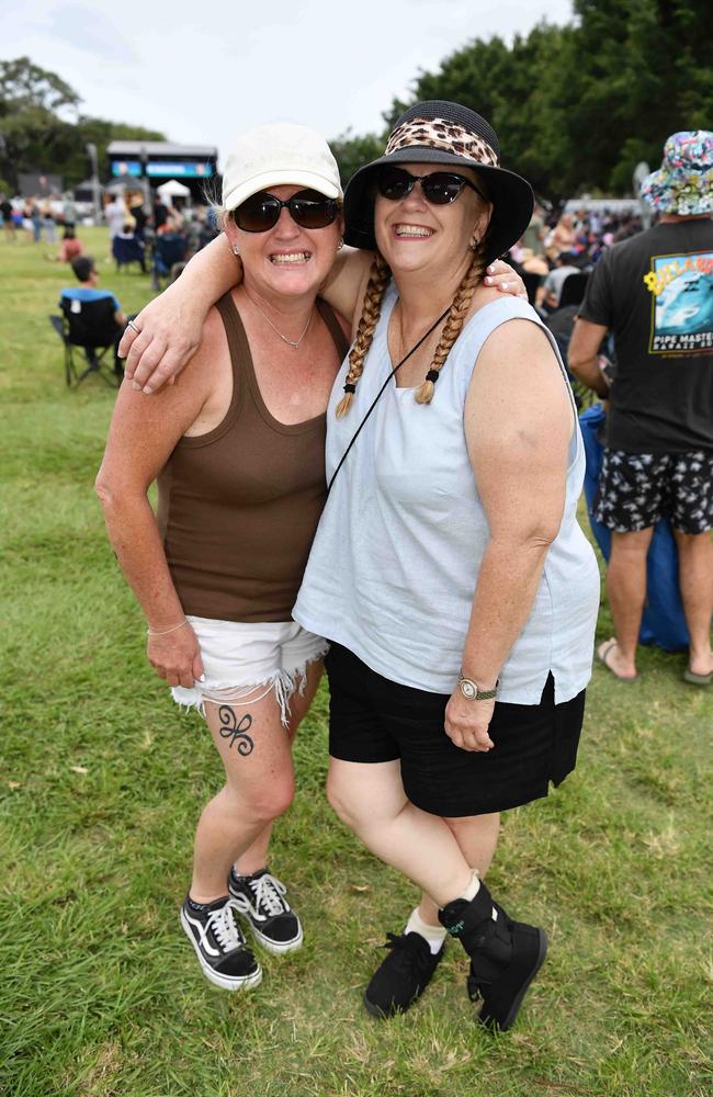
[[[246,701],[205,705],[226,783],[203,808],[195,833],[190,895],[196,903],[226,894],[233,862],[287,810],[294,794],[291,742],[274,694]]]

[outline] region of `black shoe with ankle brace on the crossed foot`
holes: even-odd
[[[478,1020],[505,1032],[544,962],[544,930],[508,918],[485,884],[471,902],[449,903],[439,911],[439,918],[471,957],[467,987],[472,1002],[483,999]]]

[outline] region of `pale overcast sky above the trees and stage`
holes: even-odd
[[[328,138],[380,132],[419,69],[472,38],[571,19],[569,0],[0,0],[0,11],[3,59],[57,72],[86,114],[216,145],[220,160],[260,122]]]

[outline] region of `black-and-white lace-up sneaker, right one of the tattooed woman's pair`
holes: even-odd
[[[299,918],[285,898],[285,885],[267,869],[251,877],[239,877],[235,869],[230,869],[228,891],[235,907],[247,918],[263,948],[276,953],[299,948]]]

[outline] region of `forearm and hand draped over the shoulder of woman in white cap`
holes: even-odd
[[[140,335],[132,328],[124,332],[118,353],[126,358],[127,381],[133,381],[137,389],[152,393],[180,373],[197,350],[208,309],[240,278],[239,262],[222,233],[135,317]]]

